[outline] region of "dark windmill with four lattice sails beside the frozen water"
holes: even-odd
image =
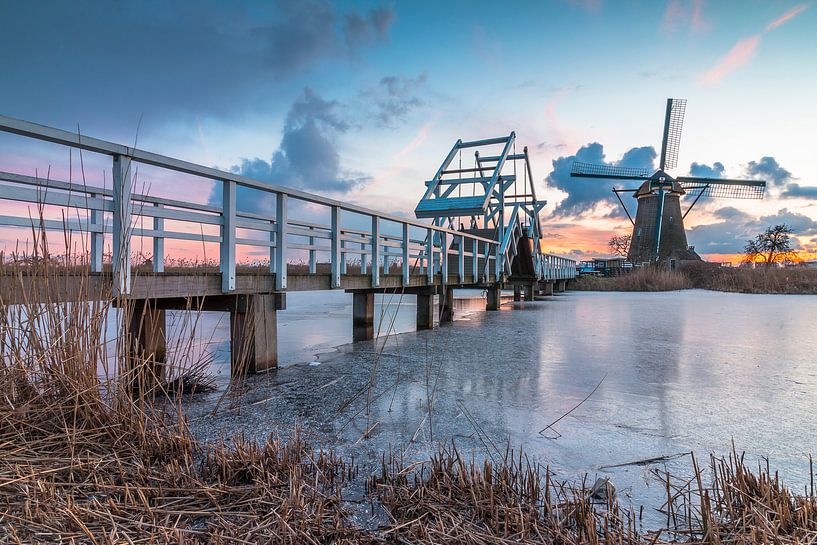
[[[613,188],[613,193],[633,224],[633,236],[627,260],[632,263],[662,261],[673,252],[686,251],[684,219],[701,197],[762,199],[766,191],[763,180],[732,180],[667,174],[678,165],[678,147],[684,123],[686,100],[667,99],[664,137],[658,170],[612,165],[593,165],[576,161],[570,175],[582,178],[644,180],[634,189]],[[621,199],[621,193],[632,193],[637,202],[635,220]],[[681,212],[681,197],[693,198]]]

